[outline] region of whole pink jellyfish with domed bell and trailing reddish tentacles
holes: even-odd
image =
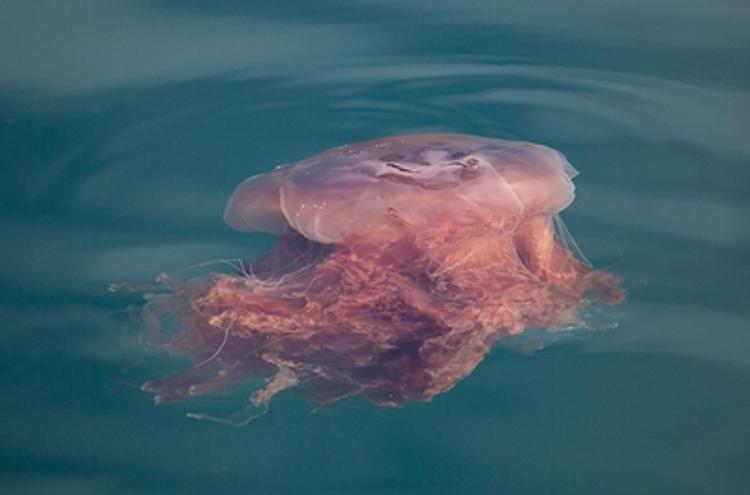
[[[416,134],[251,177],[224,219],[277,234],[275,247],[235,273],[162,277],[143,316],[194,364],[143,388],[161,403],[254,377],[238,422],[288,388],[318,406],[429,401],[504,336],[582,325],[592,301],[622,301],[558,216],[576,175],[545,146]]]

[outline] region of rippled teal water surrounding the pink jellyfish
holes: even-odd
[[[750,493],[750,4],[0,4],[0,491]],[[154,406],[184,365],[117,281],[252,258],[245,177],[378,136],[544,143],[620,275],[614,329],[500,346],[452,391],[244,428]]]

